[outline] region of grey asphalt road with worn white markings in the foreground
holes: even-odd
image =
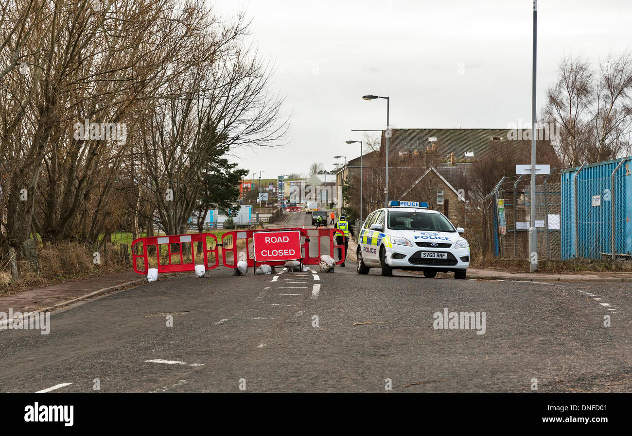
[[[626,283],[388,278],[353,262],[249,272],[88,300],[53,312],[47,335],[1,331],[0,391],[89,392],[95,379],[102,392],[632,390]],[[484,334],[435,329],[444,308],[484,312]]]

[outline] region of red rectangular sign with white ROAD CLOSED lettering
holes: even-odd
[[[301,232],[255,232],[252,235],[256,262],[294,261],[301,257]]]

